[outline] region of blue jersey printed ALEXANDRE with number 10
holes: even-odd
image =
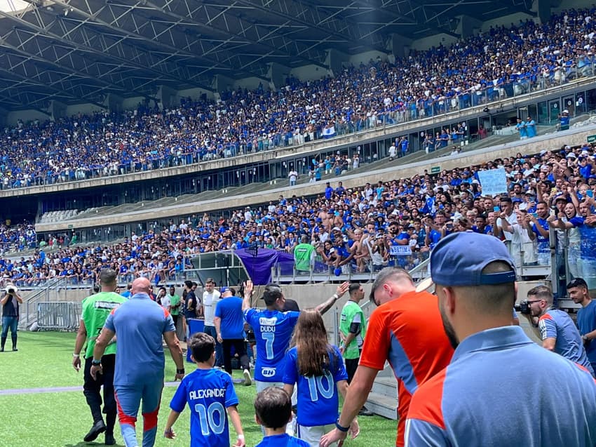
[[[191,447],[229,447],[226,408],[238,405],[229,374],[215,369],[197,369],[176,390],[170,408],[178,413],[189,404]]]

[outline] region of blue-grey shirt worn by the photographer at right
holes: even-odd
[[[574,361],[594,375],[588,356],[585,354],[581,335],[571,316],[560,309],[550,309],[540,316],[538,327],[542,340],[555,338],[555,352]]]

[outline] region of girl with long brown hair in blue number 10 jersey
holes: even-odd
[[[317,447],[321,436],[335,428],[339,393],[346,398],[348,374],[339,349],[327,342],[323,317],[315,309],[300,312],[290,346],[283,389],[291,396],[297,385],[297,436]],[[356,420],[350,431],[352,439],[358,436]]]

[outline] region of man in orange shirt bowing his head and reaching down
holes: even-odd
[[[442,325],[437,297],[416,292],[412,277],[395,267],[382,269],[372,284],[370,300],[379,306],[368,323],[363,352],[348,387],[336,427],[325,434],[323,447],[346,439],[353,418],[364,405],[377,373],[388,361],[398,380],[398,436],[404,446],[409,401],[416,389],[445,368],[453,347]]]

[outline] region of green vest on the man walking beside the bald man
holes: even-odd
[[[85,328],[87,329],[86,359],[93,356],[95,340],[97,340],[97,337],[100,335],[109,313],[125,301],[126,298],[122,295],[118,295],[116,292],[95,293],[95,295],[88,296],[83,300],[81,303],[83,305],[81,319],[83,320],[83,323],[85,323]],[[107,354],[116,354],[116,343],[107,345],[104,355]]]

